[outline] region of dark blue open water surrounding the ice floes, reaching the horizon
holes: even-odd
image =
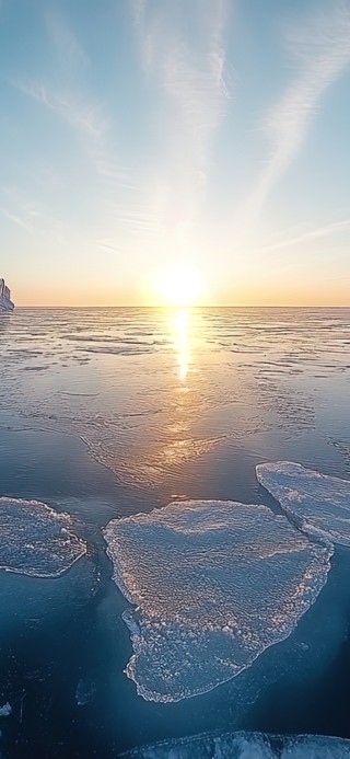
[[[0,572],[4,757],[109,757],[215,728],[350,736],[346,549],[287,641],[211,692],[160,704],[122,671],[128,603],[101,531],[174,497],[276,509],[261,461],[349,478],[349,347],[350,310],[337,309],[0,319],[0,496],[68,511],[88,542],[60,578]]]

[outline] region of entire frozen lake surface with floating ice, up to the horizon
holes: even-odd
[[[0,318],[0,752],[350,737],[349,347],[350,309]]]

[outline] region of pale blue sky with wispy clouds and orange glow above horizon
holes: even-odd
[[[350,306],[349,97],[350,0],[0,0],[15,303]]]

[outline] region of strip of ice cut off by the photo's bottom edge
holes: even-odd
[[[129,759],[345,759],[350,740],[322,735],[208,733],[120,754]]]

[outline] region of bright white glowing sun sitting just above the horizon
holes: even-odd
[[[177,265],[159,275],[156,291],[163,304],[195,306],[203,294],[203,280],[195,267]]]

